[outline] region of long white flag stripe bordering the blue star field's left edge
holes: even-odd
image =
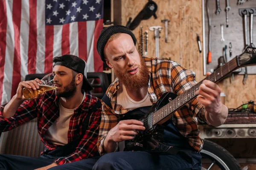
[[[37,51],[36,51],[36,73],[44,73],[45,62],[45,6],[44,0],[37,0]],[[49,41],[49,39],[47,39]]]

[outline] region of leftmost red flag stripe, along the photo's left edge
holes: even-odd
[[[3,71],[5,65],[5,54],[6,54],[6,27],[7,27],[7,16],[6,16],[6,2],[4,0],[0,0],[0,6],[2,6],[2,10],[0,10],[0,103],[2,102],[2,94],[3,94]]]

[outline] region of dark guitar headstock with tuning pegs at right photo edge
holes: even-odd
[[[236,59],[240,67],[256,65],[256,48],[248,46]]]

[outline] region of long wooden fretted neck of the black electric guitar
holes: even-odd
[[[230,74],[232,71],[239,68],[237,64],[237,58],[233,58],[227,64],[218,68],[212,74],[207,76],[202,81],[198,82],[196,85],[192,86],[189,90],[185,91],[183,94],[180,94],[167,105],[160,108],[158,111],[153,113],[153,125],[166,122],[166,118],[169,118],[175,111],[183,107],[187,102],[194,99],[197,95],[195,91],[199,89],[199,86],[203,83],[204,80],[210,80],[212,82],[218,82],[223,79],[227,74]]]

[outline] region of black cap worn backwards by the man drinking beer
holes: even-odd
[[[55,58],[56,57],[53,58],[53,61],[55,60]],[[61,61],[53,63],[53,67],[55,65],[63,65],[67,68],[72,69],[73,71],[83,74],[84,79],[82,89],[84,89],[84,91],[93,90],[92,86],[90,85],[90,82],[88,82],[87,80],[87,64],[83,59],[74,55],[66,54],[61,57],[58,57],[58,60]]]

